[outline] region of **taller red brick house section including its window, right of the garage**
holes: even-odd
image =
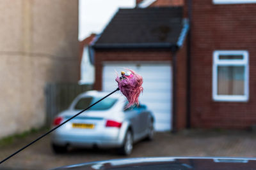
[[[195,0],[186,3],[186,11],[191,13],[191,127],[255,125],[256,1]]]

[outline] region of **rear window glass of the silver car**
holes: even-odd
[[[100,99],[101,98],[98,98],[98,97],[83,97],[76,103],[75,109],[83,110],[85,108],[88,108],[88,106],[90,106],[91,104],[99,101]],[[89,110],[108,110],[116,103],[116,101],[117,99],[113,99],[109,97],[95,104]]]

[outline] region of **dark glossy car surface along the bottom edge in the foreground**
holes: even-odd
[[[148,157],[88,162],[60,169],[256,169],[256,159],[234,157]]]

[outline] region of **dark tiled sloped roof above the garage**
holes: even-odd
[[[94,47],[177,45],[182,27],[182,7],[120,9]]]

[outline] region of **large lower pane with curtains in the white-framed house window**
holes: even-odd
[[[218,66],[218,94],[244,95],[244,66]]]

